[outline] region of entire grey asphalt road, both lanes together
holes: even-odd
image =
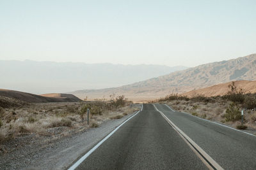
[[[196,153],[196,147],[189,146],[159,111],[223,169],[256,169],[255,136],[172,111],[164,104],[143,104],[140,113],[76,169],[208,169],[207,157],[202,159],[204,154]]]

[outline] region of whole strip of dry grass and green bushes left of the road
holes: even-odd
[[[90,109],[90,124],[87,124]],[[67,136],[102,122],[122,118],[139,110],[124,96],[111,101],[99,99],[79,103],[24,103],[0,97],[0,142],[36,134],[38,136]]]

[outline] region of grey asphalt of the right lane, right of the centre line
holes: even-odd
[[[256,169],[256,137],[156,104],[223,169]]]

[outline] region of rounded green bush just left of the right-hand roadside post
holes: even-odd
[[[225,118],[226,122],[235,122],[236,120],[241,120],[241,112],[235,103],[231,103],[228,106],[226,113],[223,115],[223,118]]]

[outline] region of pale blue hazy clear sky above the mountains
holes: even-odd
[[[0,0],[0,60],[197,66],[256,53],[256,1]]]

